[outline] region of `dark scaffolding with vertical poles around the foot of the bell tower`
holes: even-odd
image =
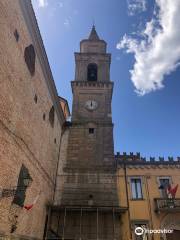
[[[116,206],[49,206],[49,218],[51,219],[48,223],[48,231],[51,234],[47,234],[45,239],[52,240],[120,240],[119,227],[116,226],[119,216],[124,213],[126,207]],[[68,214],[70,218],[68,217]],[[75,214],[75,215],[74,215]],[[56,224],[53,226],[53,218],[56,216]],[[75,217],[75,227],[70,224]],[[86,218],[86,223],[83,216]],[[91,218],[91,222],[88,221]],[[109,226],[102,226],[103,217],[108,217]],[[91,226],[90,226],[91,225]],[[93,228],[92,228],[93,225]],[[96,226],[95,226],[96,225]],[[106,227],[104,230],[103,227]],[[86,230],[86,234],[83,232],[83,228]],[[88,233],[87,229],[90,229],[91,233]],[[53,229],[53,230],[52,230]],[[106,231],[107,238],[103,235],[102,231]],[[70,233],[69,233],[69,232]]]

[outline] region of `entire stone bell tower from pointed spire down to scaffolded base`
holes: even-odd
[[[72,121],[54,208],[59,220],[52,229],[60,239],[119,240],[124,209],[119,206],[114,160],[111,55],[94,26],[81,41],[75,63]]]

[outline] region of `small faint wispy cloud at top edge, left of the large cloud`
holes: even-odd
[[[127,0],[127,5],[128,14],[131,16],[146,11],[146,0]]]

